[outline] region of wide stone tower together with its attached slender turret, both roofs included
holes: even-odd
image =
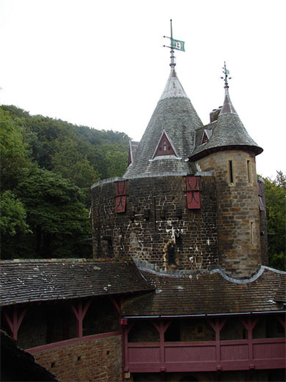
[[[94,257],[133,257],[160,272],[221,266],[250,276],[261,264],[255,155],[231,104],[203,126],[171,70],[122,178],[92,186]]]

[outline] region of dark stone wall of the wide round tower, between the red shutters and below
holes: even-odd
[[[187,209],[186,176],[124,179],[126,210],[114,211],[116,182],[92,187],[93,257],[132,256],[163,269],[218,263],[216,185],[199,176],[200,209]],[[123,179],[122,179],[123,180]],[[175,265],[168,245],[175,246]]]

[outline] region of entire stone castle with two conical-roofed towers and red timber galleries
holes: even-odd
[[[122,178],[92,185],[93,259],[2,261],[2,329],[61,381],[285,380],[286,272],[267,267],[262,149],[203,125],[175,71]]]

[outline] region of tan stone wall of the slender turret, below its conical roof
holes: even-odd
[[[255,156],[220,151],[198,164],[202,171],[215,169],[219,264],[231,275],[249,277],[262,262]]]

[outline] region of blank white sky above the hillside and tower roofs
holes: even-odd
[[[264,149],[257,173],[285,172],[284,0],[0,0],[0,104],[140,140],[169,76],[203,123],[230,96]],[[284,47],[284,48],[283,48]]]

